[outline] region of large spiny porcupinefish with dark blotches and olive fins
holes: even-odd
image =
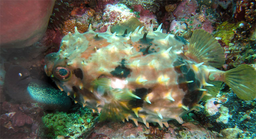
[[[202,107],[198,102],[223,81],[243,100],[256,96],[256,71],[249,65],[221,71],[222,47],[210,33],[197,29],[190,43],[162,33],[161,25],[142,33],[116,35],[68,33],[57,53],[45,57],[45,72],[76,103],[100,113],[100,119],[131,119],[149,127],[163,124]],[[215,89],[214,89],[215,88]]]

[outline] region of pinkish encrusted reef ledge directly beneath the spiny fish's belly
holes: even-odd
[[[134,126],[131,122],[114,123],[101,122],[95,125],[94,130],[86,138],[220,138],[221,135],[205,129],[195,122],[187,122],[178,125],[175,122],[168,122],[168,128],[160,128],[151,125],[146,128],[144,125]]]

